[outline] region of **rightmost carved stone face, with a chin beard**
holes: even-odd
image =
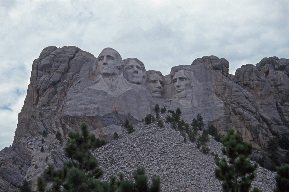
[[[186,77],[184,70],[178,71],[173,77],[173,84],[179,98],[187,96],[186,90],[190,89],[190,79]]]

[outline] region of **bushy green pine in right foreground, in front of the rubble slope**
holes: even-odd
[[[255,178],[254,171],[257,164],[251,164],[247,158],[253,150],[252,144],[243,142],[240,133],[234,134],[233,129],[229,129],[227,134],[221,138],[223,148],[222,153],[228,157],[221,161],[215,161],[215,177],[222,181],[224,192],[247,192],[251,188],[251,182]],[[258,189],[254,189],[258,191]]]

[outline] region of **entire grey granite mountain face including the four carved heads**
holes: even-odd
[[[136,58],[123,60],[112,48],[95,58],[77,47],[46,47],[33,62],[13,145],[0,153],[0,185],[14,191],[25,176],[35,180],[42,173],[33,167],[43,164],[41,145],[33,143],[42,139],[43,131],[49,135],[45,155],[61,166],[57,132],[64,139],[85,121],[97,137],[111,141],[114,132],[122,134],[126,119],[139,123],[154,114],[157,103],[171,110],[179,107],[189,123],[201,113],[220,133],[239,130],[255,148],[265,147],[277,132],[289,133],[289,60],[264,58],[235,75],[228,71],[227,60],[204,56],[163,76],[146,71]],[[11,168],[12,159],[23,165],[21,170],[18,165]]]

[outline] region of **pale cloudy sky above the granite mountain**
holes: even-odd
[[[47,46],[105,47],[147,70],[215,55],[229,73],[264,57],[289,58],[289,1],[0,0],[0,150],[14,138],[32,62]]]

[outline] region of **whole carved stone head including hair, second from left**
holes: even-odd
[[[146,76],[146,71],[144,64],[134,58],[134,59],[125,59],[125,70],[124,70],[124,77],[127,79],[128,82],[133,84],[142,84],[144,82],[144,78]]]

